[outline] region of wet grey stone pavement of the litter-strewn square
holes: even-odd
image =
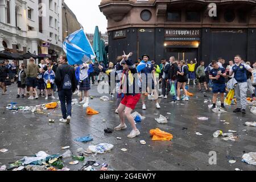
[[[196,93],[196,87],[190,86],[189,92],[195,94],[189,102],[181,101],[177,104],[170,104],[171,98],[161,100],[162,109],[155,109],[154,101],[147,101],[147,110],[142,110],[142,103],[139,102],[135,111],[138,111],[146,119],[138,123],[137,127],[141,135],[134,139],[128,139],[131,127],[125,131],[114,131],[112,134],[105,134],[104,129],[115,127],[119,124],[118,115],[115,111],[115,100],[100,101],[102,94],[97,93],[97,86],[93,85],[90,90],[90,106],[100,111],[98,115],[88,116],[82,106],[73,105],[71,125],[59,122],[61,118],[60,108],[47,110],[52,113],[46,114],[31,112],[13,113],[5,109],[10,102],[17,102],[17,106],[35,106],[47,103],[44,98],[39,100],[28,100],[27,98],[16,99],[16,85],[9,87],[6,96],[0,96],[0,149],[7,148],[9,152],[0,153],[0,166],[22,159],[23,156],[31,156],[39,151],[46,151],[47,154],[62,154],[63,146],[71,146],[69,150],[77,154],[80,147],[87,148],[90,145],[99,143],[114,144],[114,148],[105,154],[85,157],[85,162],[95,160],[97,163],[107,163],[109,168],[114,170],[255,170],[241,162],[242,155],[247,152],[256,152],[256,128],[244,126],[247,121],[254,122],[255,115],[247,109],[247,114],[232,113],[235,106],[228,106],[228,114],[218,117],[208,109],[209,104],[204,100],[212,96],[211,93]],[[11,92],[10,92],[11,91]],[[108,94],[105,94],[108,96]],[[204,97],[207,95],[207,97]],[[57,96],[57,94],[56,94]],[[78,98],[77,96],[73,98]],[[51,102],[52,100],[48,100]],[[57,101],[57,100],[56,100]],[[167,114],[171,113],[171,114]],[[161,125],[155,121],[156,117],[162,114],[169,117],[168,124]],[[208,117],[208,121],[200,121],[198,117]],[[55,119],[55,123],[49,123],[48,119]],[[222,120],[222,121],[221,121]],[[224,124],[224,121],[229,124]],[[170,142],[151,141],[149,131],[158,127],[174,135]],[[228,130],[236,130],[238,139],[236,141],[225,141],[220,138],[213,138],[216,130],[228,133]],[[247,130],[243,132],[242,130]],[[203,135],[196,135],[199,132]],[[92,142],[75,142],[75,138],[85,135],[92,135]],[[121,137],[121,140],[117,140]],[[146,145],[139,141],[145,140]],[[126,152],[121,148],[127,148]],[[210,165],[208,155],[210,151],[217,152],[217,164]],[[229,164],[230,157],[237,161]],[[72,159],[65,159],[64,166],[72,170],[78,170],[82,163],[71,166],[68,162]],[[95,167],[100,169],[100,167]]]

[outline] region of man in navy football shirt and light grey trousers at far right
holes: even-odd
[[[249,65],[242,63],[242,58],[240,55],[234,57],[235,64],[230,68],[229,75],[232,76],[234,73],[234,78],[237,80],[237,86],[235,87],[235,94],[237,98],[237,109],[234,113],[246,114],[246,93],[247,93],[247,76],[246,70],[253,72],[253,68]]]

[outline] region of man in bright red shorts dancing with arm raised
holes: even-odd
[[[135,109],[137,103],[141,98],[141,94],[139,93],[139,77],[137,73],[137,69],[133,64],[132,60],[129,57],[133,55],[133,53],[129,53],[129,55],[123,55],[123,60],[120,64],[123,66],[122,78],[121,78],[121,90],[122,93],[125,94],[125,97],[121,101],[121,104],[118,106],[118,114],[120,118],[120,125],[115,127],[115,130],[125,130],[127,126],[125,125],[125,117],[130,122],[133,130],[127,136],[128,138],[135,138],[141,133],[137,129],[134,118],[131,115],[131,112]]]

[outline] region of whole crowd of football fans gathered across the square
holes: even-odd
[[[119,114],[121,122],[115,130],[127,128],[126,117],[133,128],[127,136],[129,138],[140,134],[131,115],[140,100],[143,110],[146,110],[146,97],[155,100],[156,109],[161,108],[159,98],[168,99],[170,94],[173,104],[180,100],[189,101],[187,90],[189,84],[198,84],[199,92],[213,92],[212,109],[216,108],[217,97],[220,94],[221,109],[226,110],[224,105],[226,82],[232,78],[238,82],[235,88],[237,109],[234,113],[246,114],[248,89],[250,97],[255,100],[255,85],[252,85],[251,78],[252,72],[256,69],[256,63],[251,66],[250,62],[245,63],[239,55],[234,57],[234,61],[230,60],[228,65],[225,64],[224,59],[219,58],[209,65],[200,61],[198,67],[196,59],[188,63],[188,60],[176,60],[172,56],[169,60],[162,59],[161,64],[157,65],[156,61],[150,60],[148,55],[143,55],[142,60],[133,62],[132,55],[133,53],[126,55],[124,52],[122,56],[117,57],[115,65],[112,62],[105,65],[102,61],[98,63],[97,60],[81,65],[68,65],[65,55],[60,56],[59,63],[46,59],[41,60],[39,65],[35,64],[35,60],[31,58],[27,68],[24,64],[18,67],[15,61],[12,64],[7,60],[0,61],[2,94],[6,94],[7,91],[6,80],[12,83],[17,82],[17,98],[24,98],[29,93],[30,100],[39,97],[46,97],[46,100],[51,97],[55,100],[54,94],[57,91],[63,113],[60,121],[69,123],[72,115],[72,94],[78,94],[79,102],[83,107],[88,107],[90,84],[95,84],[96,80],[97,83],[104,80],[109,84],[110,96],[114,97],[117,93],[115,113]]]

